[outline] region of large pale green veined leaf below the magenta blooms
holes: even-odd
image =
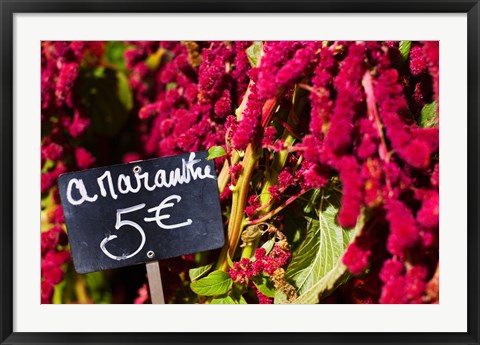
[[[322,192],[319,219],[307,217],[307,235],[293,253],[286,279],[297,288],[293,303],[318,303],[338,286],[346,273],[341,260],[348,245],[363,227],[360,217],[355,229],[346,230],[336,223],[340,207],[338,192]]]

